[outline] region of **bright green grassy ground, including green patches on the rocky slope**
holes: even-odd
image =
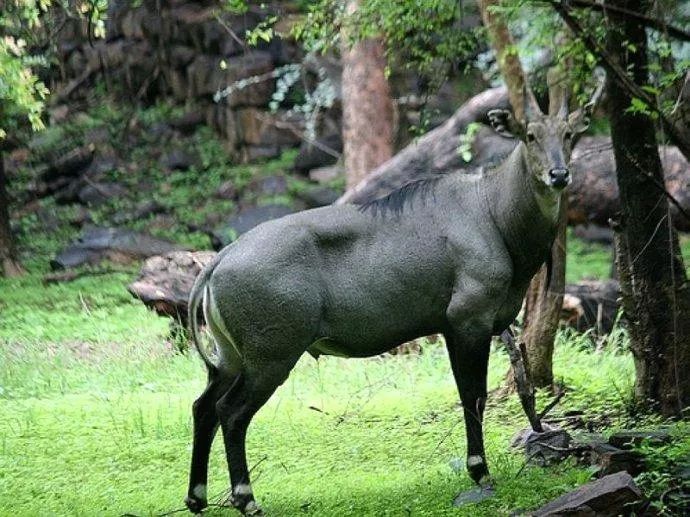
[[[130,116],[99,109],[86,119],[88,131],[112,126],[113,119],[131,123]],[[167,108],[155,107],[139,119],[155,124],[169,115]],[[48,134],[44,143],[64,137]],[[222,146],[204,128],[187,144],[201,156],[196,176],[161,172],[156,160],[147,159],[144,142],[124,150],[136,166],[113,171],[112,179],[130,185],[131,206],[154,195],[172,214],[169,224],[156,225],[154,218],[129,227],[203,248],[208,237],[185,223],[203,223],[232,208],[232,202],[213,197],[218,186],[280,174],[290,157],[229,166]],[[14,178],[15,192],[31,180],[30,171],[22,174]],[[153,184],[153,194],[140,192],[142,183]],[[163,184],[164,194],[157,188]],[[304,184],[290,179],[288,187],[282,201]],[[204,387],[204,367],[196,354],[177,352],[167,321],[126,291],[138,266],[105,264],[83,270],[87,274],[73,282],[45,285],[49,260],[78,229],[70,222],[74,206],[44,199],[40,208],[15,220],[28,273],[0,279],[0,515],[143,516],[180,509],[191,450],[190,408]],[[114,200],[90,215],[107,224],[128,209]],[[688,240],[683,251],[690,255]],[[567,269],[569,282],[606,278],[610,248],[571,236]],[[554,364],[567,393],[553,417],[579,412],[590,430],[604,434],[659,425],[635,412],[623,330],[616,329],[599,351],[588,336],[562,331]],[[492,390],[502,385],[507,368],[507,356],[496,345]],[[542,393],[538,405],[549,400]],[[524,466],[524,456],[509,442],[526,425],[517,397],[494,391],[485,429],[497,494],[454,508],[455,494],[472,483],[462,466],[465,430],[442,344],[427,343],[421,354],[365,360],[305,357],[250,428],[254,490],[268,515],[494,516],[536,508],[590,479],[591,470],[573,461]],[[677,437],[670,445],[645,451],[651,470],[637,481],[652,498],[667,486],[670,469],[690,454],[688,423],[673,424],[672,432]],[[210,469],[209,494],[218,495],[212,502],[222,500],[227,485],[219,438]]]

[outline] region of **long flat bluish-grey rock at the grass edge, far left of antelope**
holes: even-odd
[[[53,270],[96,264],[108,259],[129,263],[152,255],[161,255],[181,247],[150,235],[122,228],[91,227],[50,261]]]

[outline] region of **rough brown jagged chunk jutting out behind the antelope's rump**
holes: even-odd
[[[194,279],[215,256],[213,251],[173,251],[150,257],[127,290],[159,316],[175,318],[186,326]]]

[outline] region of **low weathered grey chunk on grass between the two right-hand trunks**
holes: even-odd
[[[596,329],[607,334],[618,314],[620,285],[617,280],[586,280],[565,286],[561,320],[584,332]]]

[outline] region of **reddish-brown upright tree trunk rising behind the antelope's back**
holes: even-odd
[[[348,13],[358,4],[358,0],[348,0]],[[343,154],[349,188],[393,156],[395,128],[383,42],[365,39],[350,47],[344,39]]]

